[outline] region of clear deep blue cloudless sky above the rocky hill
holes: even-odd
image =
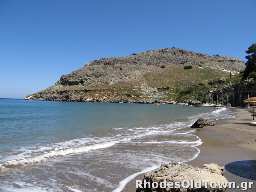
[[[103,57],[172,48],[237,57],[255,0],[0,0],[0,97],[25,98]]]

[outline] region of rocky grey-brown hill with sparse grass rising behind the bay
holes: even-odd
[[[192,69],[185,70],[184,66]],[[149,50],[125,57],[101,58],[60,77],[27,100],[137,102],[176,101],[196,85],[239,74],[245,63],[237,58],[209,56],[182,49]],[[205,87],[207,89],[208,87]]]

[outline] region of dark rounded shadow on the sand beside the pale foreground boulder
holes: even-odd
[[[235,161],[225,166],[229,172],[251,180],[256,180],[256,161]]]

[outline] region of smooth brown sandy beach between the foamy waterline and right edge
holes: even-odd
[[[216,163],[225,167],[224,177],[229,182],[241,185],[242,182],[253,182],[248,192],[256,190],[256,126],[250,126],[252,109],[230,108],[235,118],[215,121],[216,127],[197,129],[193,134],[203,142],[198,146],[199,155],[192,161],[185,162],[192,166]],[[138,175],[129,182],[123,192],[135,191],[135,180],[143,180],[144,174]],[[229,189],[228,192],[242,191],[241,188]]]

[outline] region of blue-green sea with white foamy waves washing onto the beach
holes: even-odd
[[[196,158],[198,118],[229,117],[227,108],[2,99],[0,191],[119,192],[140,173]]]

